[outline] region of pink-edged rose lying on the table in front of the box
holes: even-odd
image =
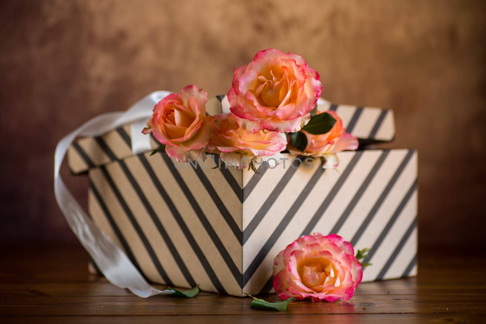
[[[296,239],[274,260],[274,289],[281,300],[347,301],[361,283],[363,268],[351,243],[331,234]]]

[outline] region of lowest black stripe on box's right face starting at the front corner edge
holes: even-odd
[[[268,255],[272,247],[274,246],[275,242],[277,242],[278,238],[280,235],[282,235],[283,231],[287,228],[287,225],[289,222],[292,221],[294,218],[294,215],[297,213],[297,210],[300,208],[300,206],[304,203],[304,200],[309,196],[309,193],[312,191],[312,188],[314,188],[315,184],[321,177],[321,175],[324,173],[325,169],[322,168],[322,163],[320,166],[316,168],[314,171],[314,174],[312,174],[311,179],[307,182],[307,185],[304,187],[302,192],[300,192],[299,196],[297,199],[295,199],[294,204],[290,207],[290,209],[287,211],[285,216],[282,218],[280,223],[278,223],[277,228],[273,231],[272,235],[267,239],[265,244],[262,246],[260,251],[258,252],[257,256],[253,259],[253,261],[250,263],[246,271],[243,273],[243,287],[246,286],[250,278],[253,276],[255,271],[257,271],[258,267],[260,266],[261,262],[265,259],[265,257]]]

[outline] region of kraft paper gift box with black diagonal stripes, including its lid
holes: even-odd
[[[218,96],[208,112],[228,105]],[[318,109],[336,110],[360,143],[395,136],[390,110],[328,103]],[[284,153],[285,166],[263,163],[255,173],[212,169],[217,155],[194,165],[166,154],[133,155],[125,125],[79,139],[68,158],[73,172],[88,173],[93,221],[149,281],[242,296],[273,291],[274,257],[313,232],[371,248],[363,281],[417,273],[417,152],[361,146],[338,153],[336,170],[321,168],[319,159],[312,168],[291,166],[295,156]]]

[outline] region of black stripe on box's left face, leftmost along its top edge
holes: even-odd
[[[167,275],[167,273],[165,273],[164,268],[162,268],[162,265],[160,264],[159,260],[157,259],[157,256],[156,256],[156,254],[154,252],[154,249],[150,245],[150,242],[148,241],[148,239],[145,237],[145,234],[143,233],[142,229],[140,228],[139,223],[137,222],[137,220],[133,216],[132,211],[130,210],[130,208],[126,204],[125,200],[121,196],[120,191],[118,190],[117,186],[115,185],[115,182],[113,181],[113,179],[111,178],[110,174],[106,170],[106,167],[105,166],[101,166],[100,167],[100,170],[103,172],[104,177],[106,178],[106,181],[108,182],[108,184],[110,185],[111,189],[115,193],[115,196],[117,197],[118,202],[120,203],[121,207],[125,211],[125,214],[128,217],[128,219],[130,220],[130,222],[132,223],[135,231],[139,235],[139,238],[142,241],[143,245],[145,246],[145,249],[147,250],[150,258],[152,259],[152,262],[154,262],[154,265],[155,265],[158,273],[160,273],[160,276],[164,279],[164,281],[165,281],[165,283],[167,285],[172,286],[173,283],[172,283],[171,279],[169,278],[169,276]]]

